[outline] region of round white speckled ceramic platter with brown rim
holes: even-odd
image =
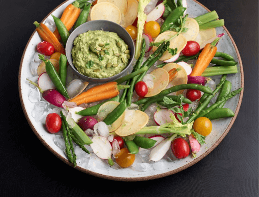
[[[45,22],[47,18],[52,20],[51,14],[60,17],[65,7],[72,3],[74,0],[67,0],[60,4],[58,7],[56,7],[49,15],[44,18],[42,22]],[[190,17],[196,17],[198,15],[204,14],[208,11],[205,6],[200,4],[199,2],[195,0],[187,0],[187,13]],[[217,11],[217,10],[216,10]],[[33,21],[32,21],[33,22]],[[219,33],[225,33],[224,37],[221,39],[219,44],[217,45],[218,51],[225,52],[230,55],[232,55],[235,60],[238,60],[238,68],[239,73],[237,74],[230,74],[228,75],[227,79],[232,82],[232,91],[237,90],[238,88],[244,88],[244,74],[243,74],[243,67],[242,67],[242,61],[240,58],[240,54],[238,52],[237,46],[231,37],[230,33],[226,29],[226,27],[218,27],[216,28],[217,34]],[[33,55],[36,52],[36,45],[37,43],[41,42],[41,38],[39,37],[37,32],[33,32],[26,47],[23,52],[23,56],[20,63],[19,68],[19,96],[21,100],[21,105],[24,111],[24,114],[26,116],[26,119],[32,128],[35,135],[39,138],[39,140],[59,159],[61,159],[66,164],[72,166],[65,155],[65,153],[54,144],[54,134],[50,134],[45,129],[45,125],[36,122],[35,119],[31,115],[31,111],[34,107],[34,103],[30,102],[28,99],[28,96],[30,92],[33,90],[32,87],[28,85],[26,82],[26,78],[33,77],[30,73],[29,64],[33,60]],[[151,179],[157,179],[161,177],[165,177],[168,175],[172,175],[174,173],[177,173],[179,171],[182,171],[193,164],[197,163],[201,159],[203,159],[205,156],[207,156],[226,136],[226,134],[229,132],[231,126],[233,125],[241,102],[243,97],[243,91],[240,95],[231,98],[227,101],[226,107],[232,109],[235,112],[235,117],[233,118],[224,118],[224,119],[218,119],[213,120],[213,130],[209,136],[206,137],[206,144],[201,146],[201,150],[199,153],[197,153],[197,157],[192,158],[191,156],[188,156],[184,159],[179,160],[173,160],[171,162],[167,162],[162,170],[150,170],[146,172],[140,172],[136,170],[132,170],[130,168],[122,169],[122,170],[116,170],[113,168],[103,168],[103,169],[94,169],[94,170],[87,170],[83,166],[78,165],[76,167],[77,170],[80,170],[84,173],[104,178],[104,179],[110,179],[110,180],[117,180],[117,181],[144,181],[144,180],[151,180]],[[169,150],[171,151],[171,150]]]

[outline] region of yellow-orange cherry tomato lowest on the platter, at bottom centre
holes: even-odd
[[[128,168],[135,161],[135,155],[130,154],[128,148],[122,148],[115,157],[116,163],[122,168]]]

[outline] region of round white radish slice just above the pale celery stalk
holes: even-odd
[[[161,124],[165,124],[171,122],[171,116],[173,115],[173,111],[167,108],[157,109],[154,112],[154,121],[160,126]]]

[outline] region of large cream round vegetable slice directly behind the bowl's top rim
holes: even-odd
[[[122,12],[111,2],[100,2],[92,7],[90,18],[91,20],[109,20],[120,24]]]

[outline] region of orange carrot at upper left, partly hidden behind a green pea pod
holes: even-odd
[[[60,20],[64,23],[67,30],[70,31],[78,19],[80,15],[81,9],[79,8],[79,2],[74,1],[73,3],[69,4],[62,13]],[[58,29],[56,28],[54,31],[54,35],[61,40],[60,34]]]

